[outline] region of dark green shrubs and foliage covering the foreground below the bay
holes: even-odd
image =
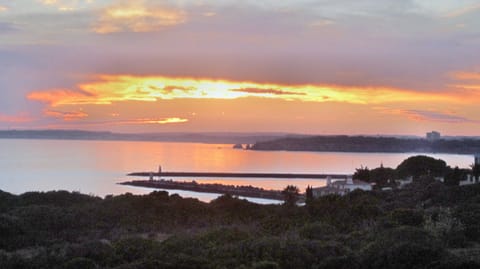
[[[480,185],[307,206],[0,191],[0,268],[479,268]]]

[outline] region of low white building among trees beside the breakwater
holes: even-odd
[[[361,180],[354,180],[352,176],[348,176],[345,180],[333,181],[331,177],[327,177],[327,185],[324,187],[313,188],[314,197],[320,197],[328,194],[345,195],[356,189],[371,191],[372,184]]]

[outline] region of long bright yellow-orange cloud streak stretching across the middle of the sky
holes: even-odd
[[[55,89],[36,91],[30,93],[28,98],[46,102],[51,106],[111,104],[120,101],[154,102],[158,99],[179,98],[236,99],[250,96],[354,104],[465,103],[475,101],[475,99],[465,98],[464,95],[455,92],[417,92],[393,87],[280,85],[164,76],[99,75],[95,77],[94,81],[79,84],[77,88],[75,91]]]

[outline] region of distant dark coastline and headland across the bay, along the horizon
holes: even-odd
[[[479,154],[480,137],[442,136],[431,141],[418,136],[304,135],[241,132],[114,133],[82,130],[0,130],[0,139],[148,141],[248,145],[248,150],[357,153]]]

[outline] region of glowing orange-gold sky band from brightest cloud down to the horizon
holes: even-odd
[[[321,130],[324,124],[338,132],[372,128],[373,122],[385,126],[392,121],[473,124],[478,119],[459,108],[473,107],[480,100],[478,91],[457,88],[420,92],[395,87],[135,75],[95,75],[75,88],[34,91],[27,98],[45,103],[43,114],[59,120],[57,128],[305,128],[307,132]],[[405,129],[402,124],[399,130]]]

